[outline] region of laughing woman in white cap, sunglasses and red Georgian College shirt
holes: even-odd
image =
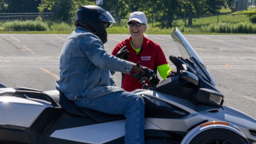
[[[127,22],[131,36],[117,44],[112,54],[130,62],[139,62],[141,65],[154,70],[155,73],[158,70],[160,76],[165,79],[171,76],[172,69],[165,59],[162,48],[144,35],[147,22],[147,17],[143,12],[131,13]],[[125,48],[126,50],[122,52]],[[150,86],[149,82],[146,82]],[[126,91],[133,91],[142,88],[142,84],[138,79],[132,79],[130,74],[122,74],[122,88]]]

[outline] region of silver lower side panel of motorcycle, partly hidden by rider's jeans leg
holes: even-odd
[[[88,144],[104,144],[125,136],[125,122],[126,120],[119,120],[60,129],[53,132],[50,137]],[[148,119],[145,119],[145,129],[162,130]]]

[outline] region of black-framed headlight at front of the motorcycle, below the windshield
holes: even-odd
[[[208,88],[200,88],[196,93],[196,99],[199,103],[213,107],[222,107],[223,97],[220,92]]]

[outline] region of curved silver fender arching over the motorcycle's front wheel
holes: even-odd
[[[209,122],[207,122],[209,123]],[[191,129],[191,131],[189,131],[186,136],[183,138],[183,140],[181,141],[180,144],[189,144],[191,142],[191,140],[196,137],[199,133],[203,132],[203,131],[206,131],[208,129],[215,129],[215,128],[223,128],[223,129],[228,129],[232,132],[235,132],[236,134],[238,134],[239,136],[241,136],[242,138],[244,138],[247,143],[248,140],[247,138],[245,137],[245,134],[240,130],[239,127],[231,124],[231,123],[228,123],[229,125],[225,125],[225,124],[221,124],[221,123],[212,123],[212,124],[209,124],[209,125],[204,125],[204,124],[207,124],[207,123],[203,123],[193,129]]]

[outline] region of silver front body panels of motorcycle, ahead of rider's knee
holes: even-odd
[[[199,125],[200,122],[221,121],[228,122],[230,123],[230,125],[219,125],[219,127],[232,130],[243,137],[245,136],[247,139],[256,141],[256,136],[252,135],[249,131],[256,131],[256,120],[250,117],[249,115],[246,115],[236,109],[230,108],[228,106],[223,106],[223,108],[208,108],[205,110],[197,110],[195,105],[193,105],[188,100],[170,96],[165,93],[156,92],[152,90],[137,90],[134,91],[134,93],[140,94],[141,96],[147,96],[152,97],[154,99],[162,100],[190,113],[189,115],[184,116],[181,119],[146,118],[148,121],[150,121],[160,129],[163,129],[164,131],[179,131],[191,133],[192,130],[188,131],[188,129],[190,129],[193,126]],[[217,127],[208,127],[207,129],[210,128]],[[203,131],[204,130],[206,129],[203,129]],[[194,128],[193,133],[198,134],[200,132],[202,132],[200,126]],[[192,134],[191,137],[193,136],[196,135]]]

